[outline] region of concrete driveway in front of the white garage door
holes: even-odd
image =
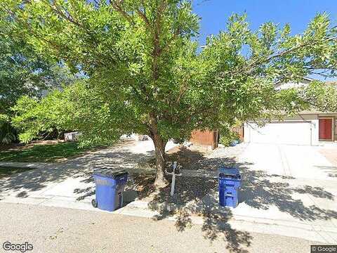
[[[336,243],[336,165],[322,149],[249,144],[237,160],[243,179],[235,219],[270,224],[260,228],[266,233],[279,226],[281,235]]]

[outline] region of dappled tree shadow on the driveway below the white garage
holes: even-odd
[[[268,175],[265,171],[250,170],[244,164],[237,164],[237,166],[243,175],[239,202],[244,202],[250,207],[263,210],[276,206],[279,211],[301,221],[337,219],[335,210],[324,209],[317,205],[306,206],[301,199],[293,197],[293,194],[299,193],[310,198],[320,197],[334,200],[333,194],[324,190],[324,188],[312,186],[294,187],[283,176]],[[280,177],[282,180],[275,180],[275,177]]]

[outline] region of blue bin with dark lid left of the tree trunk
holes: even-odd
[[[93,179],[96,186],[94,207],[105,211],[114,211],[123,206],[123,191],[128,179],[128,172],[110,168],[95,169]]]

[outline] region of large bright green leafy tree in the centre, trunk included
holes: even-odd
[[[165,183],[169,138],[299,110],[305,96],[276,91],[274,83],[336,69],[337,31],[324,13],[295,36],[289,25],[253,31],[244,15],[232,15],[199,48],[190,1],[3,0],[0,8],[37,52],[90,78],[88,103],[81,103],[88,110],[77,114],[84,132],[94,129],[88,141],[121,132],[152,138],[157,186]],[[83,117],[91,109],[101,113]]]

